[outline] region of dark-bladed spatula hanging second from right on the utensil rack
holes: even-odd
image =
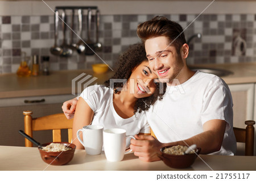
[[[92,25],[92,10],[88,9],[88,20],[87,20],[87,40],[85,41],[87,47],[85,50],[86,55],[94,54],[94,43],[90,40],[90,30]]]

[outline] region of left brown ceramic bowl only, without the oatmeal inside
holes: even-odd
[[[46,144],[42,144],[42,146],[47,146],[51,143],[52,142],[48,142]],[[67,151],[47,152],[47,151],[44,151],[44,150],[38,148],[43,161],[48,163],[49,165],[65,165],[68,162],[70,162],[72,160],[72,158],[74,157],[76,145],[69,144],[68,142],[54,142],[54,143],[62,144],[62,145],[68,146],[72,149],[67,150]]]

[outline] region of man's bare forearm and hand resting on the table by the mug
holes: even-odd
[[[170,142],[163,144],[152,136],[135,136],[137,140],[131,139],[130,148],[140,159],[146,162],[158,161],[156,153],[160,153],[160,148],[172,145],[192,145],[196,144],[201,148],[201,154],[209,154],[220,150],[225,129],[226,121],[209,120],[203,125],[204,132],[197,134],[187,140]]]

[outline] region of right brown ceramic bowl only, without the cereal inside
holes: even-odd
[[[197,154],[200,153],[201,148],[196,149],[196,154],[185,154],[185,155],[174,155],[174,154],[167,154],[164,153],[163,150],[166,148],[170,148],[171,146],[166,146],[160,149],[160,154],[158,157],[162,159],[162,161],[167,165],[174,169],[185,169],[195,162]]]

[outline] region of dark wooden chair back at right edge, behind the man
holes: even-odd
[[[245,155],[253,156],[254,154],[254,124],[255,121],[248,120],[245,121],[247,125],[245,129],[234,127],[234,134],[236,136],[237,142],[245,143]]]

